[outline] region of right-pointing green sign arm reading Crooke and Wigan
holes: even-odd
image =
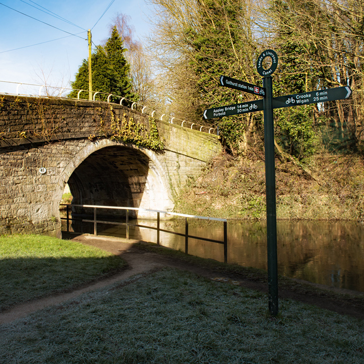
[[[282,107],[317,104],[319,102],[347,99],[352,94],[349,86],[328,88],[324,90],[303,92],[301,94],[286,95],[273,98],[273,109]]]

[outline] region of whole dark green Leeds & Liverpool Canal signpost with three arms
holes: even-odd
[[[265,58],[270,58],[270,67],[264,68]],[[220,77],[220,85],[235,90],[262,96],[263,100],[247,101],[239,104],[206,109],[205,119],[222,118],[255,111],[264,114],[264,149],[265,182],[267,203],[267,255],[268,255],[268,306],[271,315],[278,314],[278,263],[277,263],[277,216],[276,216],[276,182],[274,161],[274,119],[273,110],[282,107],[308,105],[327,101],[347,99],[352,94],[349,86],[304,92],[273,98],[272,73],[278,65],[278,56],[274,50],[262,52],[257,60],[257,71],[263,77],[263,87],[255,86],[227,76]]]

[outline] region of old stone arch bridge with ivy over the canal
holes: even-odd
[[[159,135],[164,148],[122,141],[122,124],[131,134],[144,125],[142,134]],[[172,210],[187,177],[220,152],[216,135],[151,124],[122,105],[0,95],[0,233],[60,236],[67,183],[74,204]]]

